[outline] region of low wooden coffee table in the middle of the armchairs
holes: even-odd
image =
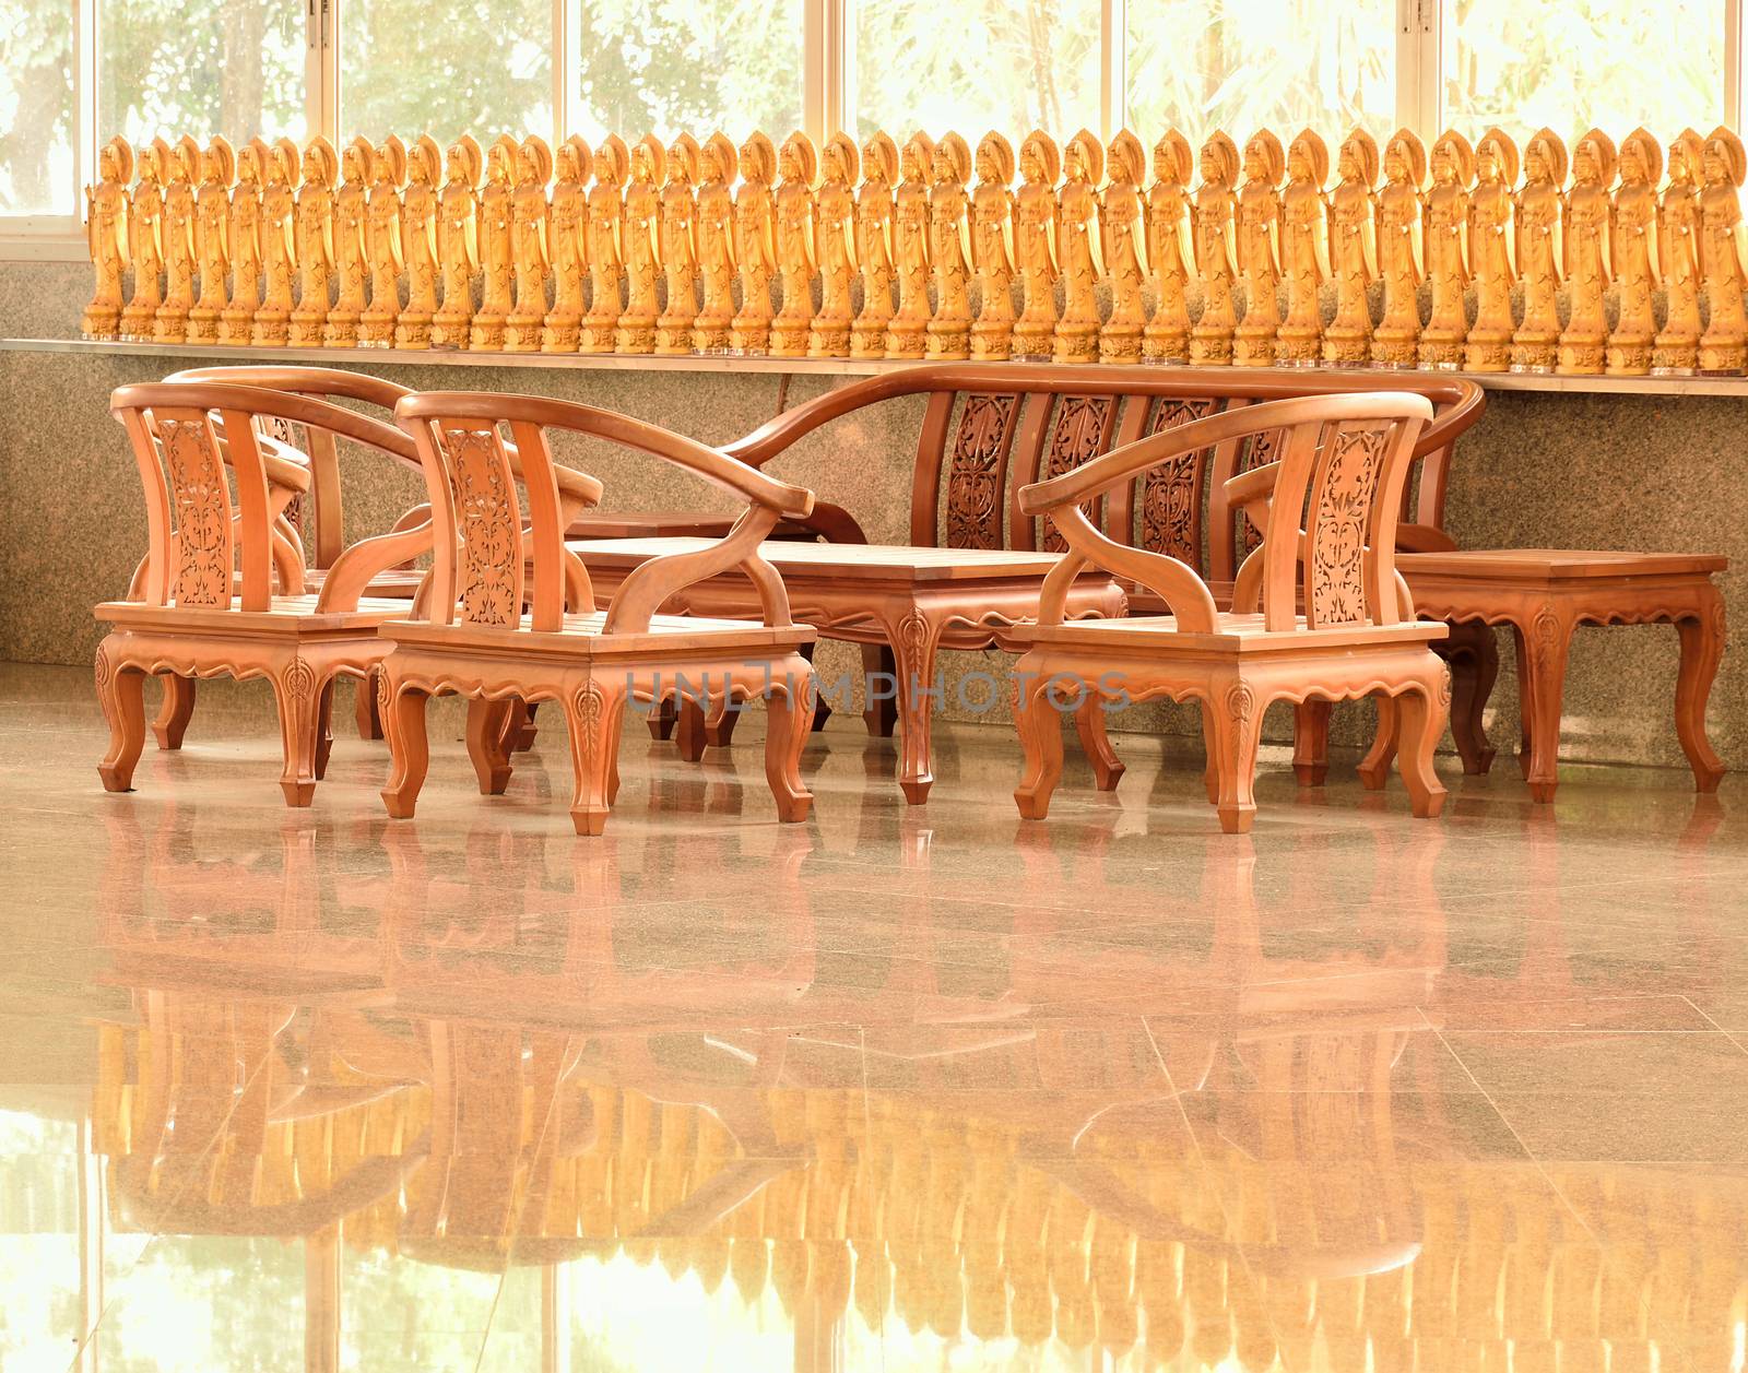
[[[596,597],[612,590],[642,562],[664,554],[710,547],[694,538],[572,540],[589,568]],[[1044,578],[1061,554],[1007,549],[921,549],[893,543],[790,543],[759,545],[760,557],[788,587],[790,615],[811,624],[822,638],[886,648],[893,659],[897,716],[902,730],[898,786],[912,805],[928,798],[933,784],[930,720],[937,695],[935,655],[940,648],[1003,646],[1003,632],[1038,610]],[[759,601],[739,576],[717,576],[689,587],[678,606],[692,615],[736,615]],[[1115,617],[1124,594],[1115,578],[1087,569],[1068,592],[1068,615]],[[871,693],[872,695],[872,693]],[[879,702],[864,713],[869,730],[881,734]],[[1115,783],[1115,763],[1103,741],[1096,713],[1080,716],[1082,741],[1094,751],[1099,781]],[[1087,737],[1092,732],[1094,737]]]

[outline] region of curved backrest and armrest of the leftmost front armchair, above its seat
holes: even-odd
[[[302,424],[311,433],[353,438],[418,461],[413,440],[397,428],[325,400],[257,386],[121,386],[110,397],[110,414],[128,430],[145,489],[142,597],[154,606],[227,608],[241,571],[241,608],[269,608],[273,547],[262,421]]]

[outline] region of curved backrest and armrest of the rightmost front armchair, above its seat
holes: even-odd
[[[1024,515],[1049,515],[1070,557],[1052,576],[1040,620],[1061,618],[1073,571],[1096,562],[1133,576],[1173,608],[1180,627],[1213,624],[1213,601],[1182,559],[1115,543],[1087,510],[1187,454],[1238,440],[1271,438],[1269,538],[1262,561],[1262,615],[1271,631],[1294,629],[1302,599],[1308,629],[1390,625],[1400,618],[1395,552],[1402,489],[1432,402],[1405,391],[1269,400],[1194,419],[1138,438],[1086,466],[1019,491]],[[1294,519],[1302,512],[1302,521]]]

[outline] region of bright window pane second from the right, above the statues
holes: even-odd
[[[1129,126],[1192,143],[1397,128],[1395,0],[1129,0]]]

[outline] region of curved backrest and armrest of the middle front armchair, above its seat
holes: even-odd
[[[582,573],[580,564],[566,566],[565,521],[547,430],[570,430],[652,454],[748,501],[729,535],[711,549],[657,557],[631,573],[608,608],[608,632],[647,629],[650,615],[669,596],[736,566],[753,578],[767,618],[788,622],[783,583],[757,550],[778,519],[804,519],[813,510],[813,493],[806,487],[778,482],[656,424],[544,397],[425,391],[406,397],[395,407],[395,419],[413,435],[425,465],[435,531],[434,622],[454,624],[460,611],[463,624],[516,627],[523,604],[528,604],[530,629],[552,632],[563,627],[566,578]],[[526,510],[505,437],[519,454]],[[589,500],[600,500],[601,484],[593,477],[584,480],[591,487]]]

